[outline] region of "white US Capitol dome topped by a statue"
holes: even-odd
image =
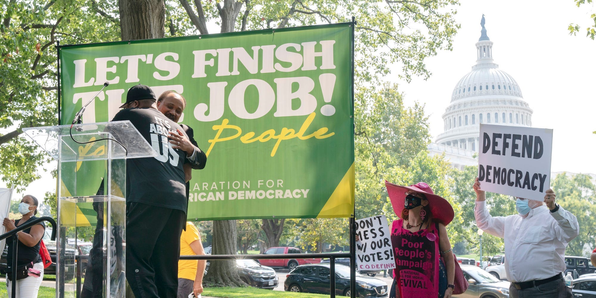
[[[476,65],[451,93],[443,113],[443,133],[429,144],[431,156],[445,153],[454,167],[475,166],[478,161],[480,123],[532,126],[532,108],[523,100],[516,80],[493,61],[493,42],[486,35],[485,17],[476,43]]]

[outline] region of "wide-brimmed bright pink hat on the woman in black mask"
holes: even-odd
[[[455,216],[451,204],[440,195],[434,194],[432,188],[424,182],[418,182],[417,184],[405,187],[385,181],[385,186],[387,187],[387,194],[389,194],[393,212],[397,216],[402,216],[403,204],[405,203],[406,192],[408,191],[424,194],[429,201],[430,212],[433,213],[433,218],[442,222],[443,225],[448,225]]]

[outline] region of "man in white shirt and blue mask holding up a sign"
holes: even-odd
[[[544,202],[516,198],[519,214],[493,217],[486,207],[486,194],[480,190],[478,178],[473,188],[476,225],[505,240],[510,297],[572,297],[562,272],[566,269],[567,243],[579,234],[578,219],[555,203],[554,191],[546,191]]]

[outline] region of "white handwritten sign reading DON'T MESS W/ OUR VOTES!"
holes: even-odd
[[[356,266],[358,270],[395,268],[387,218],[384,215],[356,221]]]

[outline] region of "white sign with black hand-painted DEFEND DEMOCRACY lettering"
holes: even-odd
[[[550,188],[552,129],[480,124],[482,190],[544,200]]]

